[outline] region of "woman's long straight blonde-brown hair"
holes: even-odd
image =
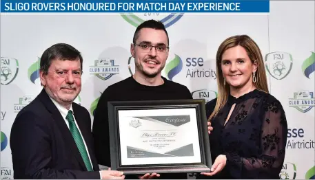
[[[223,43],[219,46],[218,52],[216,52],[216,74],[217,74],[217,84],[218,84],[218,97],[216,99],[216,106],[214,107],[214,111],[210,115],[208,120],[211,120],[213,117],[215,117],[218,112],[223,108],[223,106],[227,102],[227,98],[230,94],[230,86],[224,85],[224,78],[223,73],[221,69],[221,60],[223,53],[231,48],[236,47],[237,45],[240,45],[243,47],[247,55],[250,57],[250,60],[252,63],[257,63],[257,70],[256,70],[256,82],[254,83],[254,86],[256,89],[260,91],[265,91],[266,93],[269,93],[268,91],[268,85],[267,85],[267,76],[265,73],[265,65],[263,63],[263,56],[261,54],[261,49],[259,49],[258,45],[250,38],[250,36],[247,35],[240,35],[240,36],[232,36],[230,38],[225,39]]]

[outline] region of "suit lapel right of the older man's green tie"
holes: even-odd
[[[88,153],[90,155],[90,159],[91,159],[91,163],[93,164],[93,169],[97,170],[96,166],[99,166],[99,164],[97,164],[96,159],[94,158],[94,151],[92,148],[92,133],[91,130],[88,129],[89,124],[86,124],[85,119],[84,118],[88,118],[85,117],[83,113],[81,113],[80,109],[78,109],[78,106],[76,106],[77,104],[72,104],[72,109],[74,111],[74,117],[75,120],[77,121],[77,124],[80,128],[81,134],[83,136],[84,142],[88,148]]]

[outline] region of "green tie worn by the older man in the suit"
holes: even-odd
[[[74,122],[74,118],[73,118],[71,110],[68,112],[68,115],[65,117],[65,119],[68,120],[68,122],[69,122],[70,132],[72,134],[74,142],[77,144],[77,147],[80,151],[81,157],[84,161],[86,168],[88,169],[88,171],[92,171],[92,166],[90,163],[90,159],[88,157],[88,153],[86,152],[86,149],[85,149],[85,146],[83,143],[83,139],[80,135],[79,129],[77,128],[77,126]]]

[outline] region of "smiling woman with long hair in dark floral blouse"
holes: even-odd
[[[198,179],[279,179],[285,159],[287,121],[270,95],[258,45],[232,36],[216,54],[218,98],[206,105],[212,172]]]

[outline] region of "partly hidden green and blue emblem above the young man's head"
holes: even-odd
[[[179,19],[181,19],[181,17],[183,16],[183,14],[168,14],[168,15],[163,14],[162,15],[155,12],[153,13],[148,12],[148,13],[144,13],[143,15],[139,15],[139,14],[135,15],[135,14],[130,13],[130,14],[121,14],[121,16],[123,17],[123,19],[125,19],[125,21],[127,21],[134,27],[138,27],[141,23],[149,19],[159,19],[159,21],[161,21],[164,24],[165,28],[167,28],[173,25],[174,23],[176,23],[177,21],[179,21]]]

